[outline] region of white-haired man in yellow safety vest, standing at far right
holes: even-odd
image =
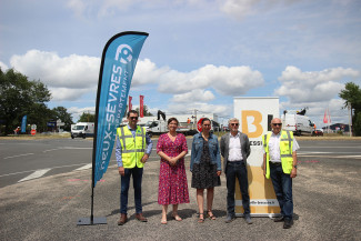
[[[263,174],[271,178],[281,217],[274,222],[284,222],[283,229],[293,224],[292,179],[297,177],[297,150],[300,149],[291,131],[282,130],[279,118],[271,121],[272,132],[263,135]]]

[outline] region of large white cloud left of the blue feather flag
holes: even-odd
[[[30,79],[46,83],[54,100],[76,100],[94,91],[100,68],[99,58],[77,54],[61,58],[56,52],[40,50],[13,56],[10,63]]]

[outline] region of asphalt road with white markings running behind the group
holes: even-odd
[[[191,150],[191,138],[188,138]],[[357,141],[299,141],[300,157],[361,159]],[[157,139],[150,161],[158,161]],[[0,188],[37,178],[90,169],[92,139],[0,140]],[[116,164],[114,151],[110,165]]]

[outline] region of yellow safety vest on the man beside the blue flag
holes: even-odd
[[[130,169],[142,168],[144,164],[141,162],[144,155],[146,147],[146,130],[137,125],[136,138],[133,138],[129,128],[120,127],[117,128],[117,134],[121,144],[121,159],[123,168]]]

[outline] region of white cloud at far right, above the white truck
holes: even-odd
[[[291,103],[329,101],[343,88],[342,80],[359,76],[360,72],[351,68],[302,72],[299,68],[289,66],[279,78],[282,86],[274,93],[287,97]]]

